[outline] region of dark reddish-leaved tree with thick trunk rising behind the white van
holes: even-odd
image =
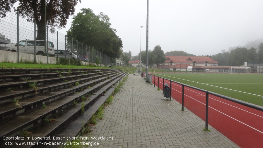
[[[23,18],[28,18],[28,22],[34,22],[34,20],[36,20],[36,39],[44,40],[46,33],[45,23],[49,26],[51,33],[55,32],[55,27],[59,29],[62,27],[65,28],[69,16],[74,15],[75,6],[78,4],[78,1],[81,2],[81,0],[19,0],[19,6],[15,11],[19,12]]]

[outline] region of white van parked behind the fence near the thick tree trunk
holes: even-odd
[[[34,54],[35,49],[35,41],[34,40],[21,40],[19,42],[19,52]],[[48,54],[54,56],[54,44],[53,42],[48,42]],[[11,46],[8,51],[17,52],[17,44]],[[46,51],[47,52],[47,51]],[[37,55],[45,55],[45,41],[44,40],[36,40],[36,53]]]

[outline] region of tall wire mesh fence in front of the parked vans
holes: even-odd
[[[38,40],[43,40],[43,42],[38,42]],[[0,50],[16,52],[16,60],[13,59],[11,62],[17,63],[30,60],[28,55],[24,56],[23,54],[29,53],[33,56],[34,63],[56,64],[61,62],[58,57],[64,57],[79,60],[84,65],[107,66],[110,64],[110,57],[94,47],[89,47],[72,38],[67,39],[66,35],[59,33],[59,31],[50,32],[48,27],[45,31],[44,25],[28,22],[26,18],[21,18],[14,11],[6,13],[6,17],[1,18]],[[0,53],[7,55],[3,52]],[[38,59],[43,59],[39,55],[45,56],[46,60],[39,61]],[[6,59],[2,59],[0,62],[10,62]]]

